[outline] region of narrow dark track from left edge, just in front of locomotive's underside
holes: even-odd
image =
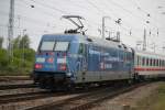
[[[65,96],[65,95],[74,95],[74,94],[85,94],[90,92],[94,90],[98,90],[100,88],[94,88],[90,90],[76,90],[75,92],[68,92],[68,91],[36,91],[36,92],[24,92],[24,94],[14,94],[14,95],[3,95],[0,96],[0,105],[3,103],[10,103],[10,102],[19,102],[19,101],[26,101],[26,100],[33,100],[33,99],[43,99],[46,97],[55,97],[55,96]]]

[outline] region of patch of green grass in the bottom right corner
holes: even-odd
[[[161,82],[157,90],[142,99],[135,110],[165,110],[165,82]]]

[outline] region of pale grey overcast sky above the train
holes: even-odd
[[[10,0],[0,0],[0,36],[4,38],[8,36],[9,3]],[[34,50],[43,34],[63,33],[72,25],[61,19],[64,14],[84,16],[87,34],[96,37],[101,37],[98,30],[102,16],[110,16],[106,20],[106,30],[111,35],[120,30],[121,41],[127,45],[135,47],[136,42],[143,41],[145,28],[148,51],[153,43],[157,53],[165,46],[165,0],[15,0],[14,8],[14,37],[26,30]],[[120,26],[114,22],[118,19],[121,19]]]

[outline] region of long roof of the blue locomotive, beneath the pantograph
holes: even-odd
[[[75,40],[79,43],[86,43],[86,44],[92,43],[94,45],[97,45],[97,46],[111,47],[111,48],[117,48],[117,50],[125,50],[125,51],[132,52],[131,47],[128,47],[127,45],[120,42],[108,41],[101,37],[94,37],[94,36],[81,35],[81,34],[45,34],[43,35],[42,38],[52,40],[55,37],[59,40],[67,37],[67,40]]]

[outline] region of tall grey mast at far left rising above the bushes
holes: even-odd
[[[8,26],[8,54],[9,61],[12,62],[13,57],[13,26],[14,26],[14,0],[10,0],[10,12],[9,12],[9,26]]]

